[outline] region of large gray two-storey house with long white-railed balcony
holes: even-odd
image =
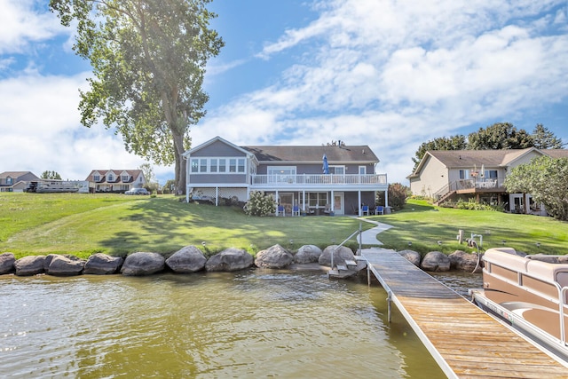
[[[323,172],[323,157],[327,171]],[[369,146],[235,146],[212,138],[184,154],[186,193],[247,201],[251,191],[272,193],[280,213],[361,214],[375,206],[377,192],[387,199],[387,176]]]

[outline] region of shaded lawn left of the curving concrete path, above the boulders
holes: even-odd
[[[0,252],[17,257],[134,251],[167,255],[186,245],[206,254],[230,247],[256,253],[276,243],[288,249],[325,247],[358,228],[353,217],[248,217],[241,209],[188,204],[173,196],[0,194]]]

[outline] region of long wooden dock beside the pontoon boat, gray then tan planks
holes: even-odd
[[[387,249],[361,256],[449,378],[568,378],[568,367]]]

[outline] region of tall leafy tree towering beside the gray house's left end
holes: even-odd
[[[205,114],[205,65],[223,46],[209,20],[210,0],[51,0],[61,23],[75,25],[74,50],[89,59],[90,91],[81,91],[81,122],[99,119],[122,135],[129,152],[155,164],[175,162],[185,189],[182,154],[189,126]]]

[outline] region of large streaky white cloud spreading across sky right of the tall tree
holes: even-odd
[[[297,57],[280,83],[235,100],[222,116],[209,113],[193,140],[213,129],[242,144],[368,144],[404,181],[422,142],[567,99],[568,36],[560,25],[542,32],[565,20],[565,6],[556,10],[563,5],[319,1],[318,20],[258,54]]]

